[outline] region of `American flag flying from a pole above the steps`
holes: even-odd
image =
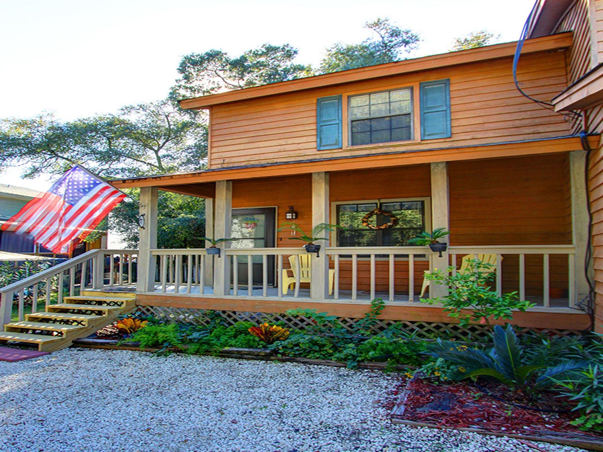
[[[125,194],[77,165],[48,192],[25,204],[2,225],[4,231],[31,234],[53,253],[71,253]]]

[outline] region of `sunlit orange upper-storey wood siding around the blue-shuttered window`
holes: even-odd
[[[517,91],[511,65],[511,58],[499,58],[214,105],[210,168],[533,140],[569,133],[569,124],[563,115],[552,113]],[[317,150],[317,98],[343,93],[346,116],[346,95],[412,86],[416,111],[418,83],[442,78],[450,79],[451,138],[346,148],[344,121],[344,148]],[[519,80],[530,95],[550,100],[567,86],[565,52],[524,55],[520,61]],[[418,124],[415,123],[415,127]]]

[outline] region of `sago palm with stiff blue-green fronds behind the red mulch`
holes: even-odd
[[[459,366],[455,378],[493,377],[510,388],[531,392],[552,383],[552,377],[564,374],[588,365],[585,360],[568,360],[557,366],[545,369],[544,365],[528,360],[517,340],[513,327],[507,330],[496,325],[492,336],[494,347],[488,353],[484,350],[458,345],[456,342],[442,341],[432,346],[432,354]],[[538,378],[532,378],[534,372],[544,371]]]

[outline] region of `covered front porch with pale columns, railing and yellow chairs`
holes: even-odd
[[[205,298],[212,300],[212,309],[228,306],[228,300],[294,307],[366,306],[382,298],[392,307],[416,311],[421,306],[422,311],[426,306],[417,302],[425,271],[460,268],[464,256],[493,254],[497,292],[516,291],[532,301],[533,315],[578,315],[586,327],[586,314],[577,309],[589,292],[584,157],[584,151],[570,151],[209,183],[158,182],[141,187],[145,227],[137,283],[135,289],[122,288],[136,290],[139,300],[174,306],[193,306]],[[219,245],[219,257],[205,248],[157,248],[159,189],[206,198],[206,236],[234,240]],[[325,222],[343,223],[353,232],[335,231],[323,240],[320,254],[309,259],[309,280],[293,271],[303,266],[299,256],[308,254],[303,243],[281,228],[291,221],[289,206],[304,231]],[[389,236],[357,231],[358,218],[374,206],[393,211],[404,226]],[[405,243],[420,230],[438,227],[450,230],[441,257],[426,246]],[[431,284],[425,297],[445,291]]]

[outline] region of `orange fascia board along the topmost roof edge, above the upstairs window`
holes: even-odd
[[[572,45],[572,33],[558,33],[550,36],[528,39],[523,44],[522,53],[553,51],[566,49]],[[245,89],[231,90],[207,96],[182,99],[180,107],[187,110],[209,108],[212,105],[295,92],[324,86],[349,83],[370,78],[388,77],[390,75],[408,72],[425,71],[437,67],[456,66],[458,64],[474,63],[476,61],[494,60],[496,58],[512,57],[515,54],[517,42],[507,42],[475,49],[448,52],[446,54],[429,55],[427,57],[411,58],[394,63],[377,64],[376,66],[359,67],[348,71],[332,72],[314,77],[298,78],[295,80],[254,86]]]

